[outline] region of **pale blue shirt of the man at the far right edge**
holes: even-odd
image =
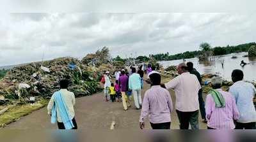
[[[237,122],[256,122],[256,111],[253,104],[256,90],[252,83],[236,82],[230,87],[229,92],[236,98],[237,108],[241,114]]]

